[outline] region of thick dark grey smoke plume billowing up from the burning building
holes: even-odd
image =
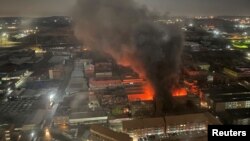
[[[182,51],[182,34],[175,26],[153,21],[154,14],[133,0],[78,0],[75,35],[85,46],[110,54],[130,66],[155,89],[159,111],[171,109]]]

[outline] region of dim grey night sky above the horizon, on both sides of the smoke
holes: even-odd
[[[76,0],[0,0],[0,16],[69,15]],[[136,0],[171,15],[250,15],[250,0]]]

